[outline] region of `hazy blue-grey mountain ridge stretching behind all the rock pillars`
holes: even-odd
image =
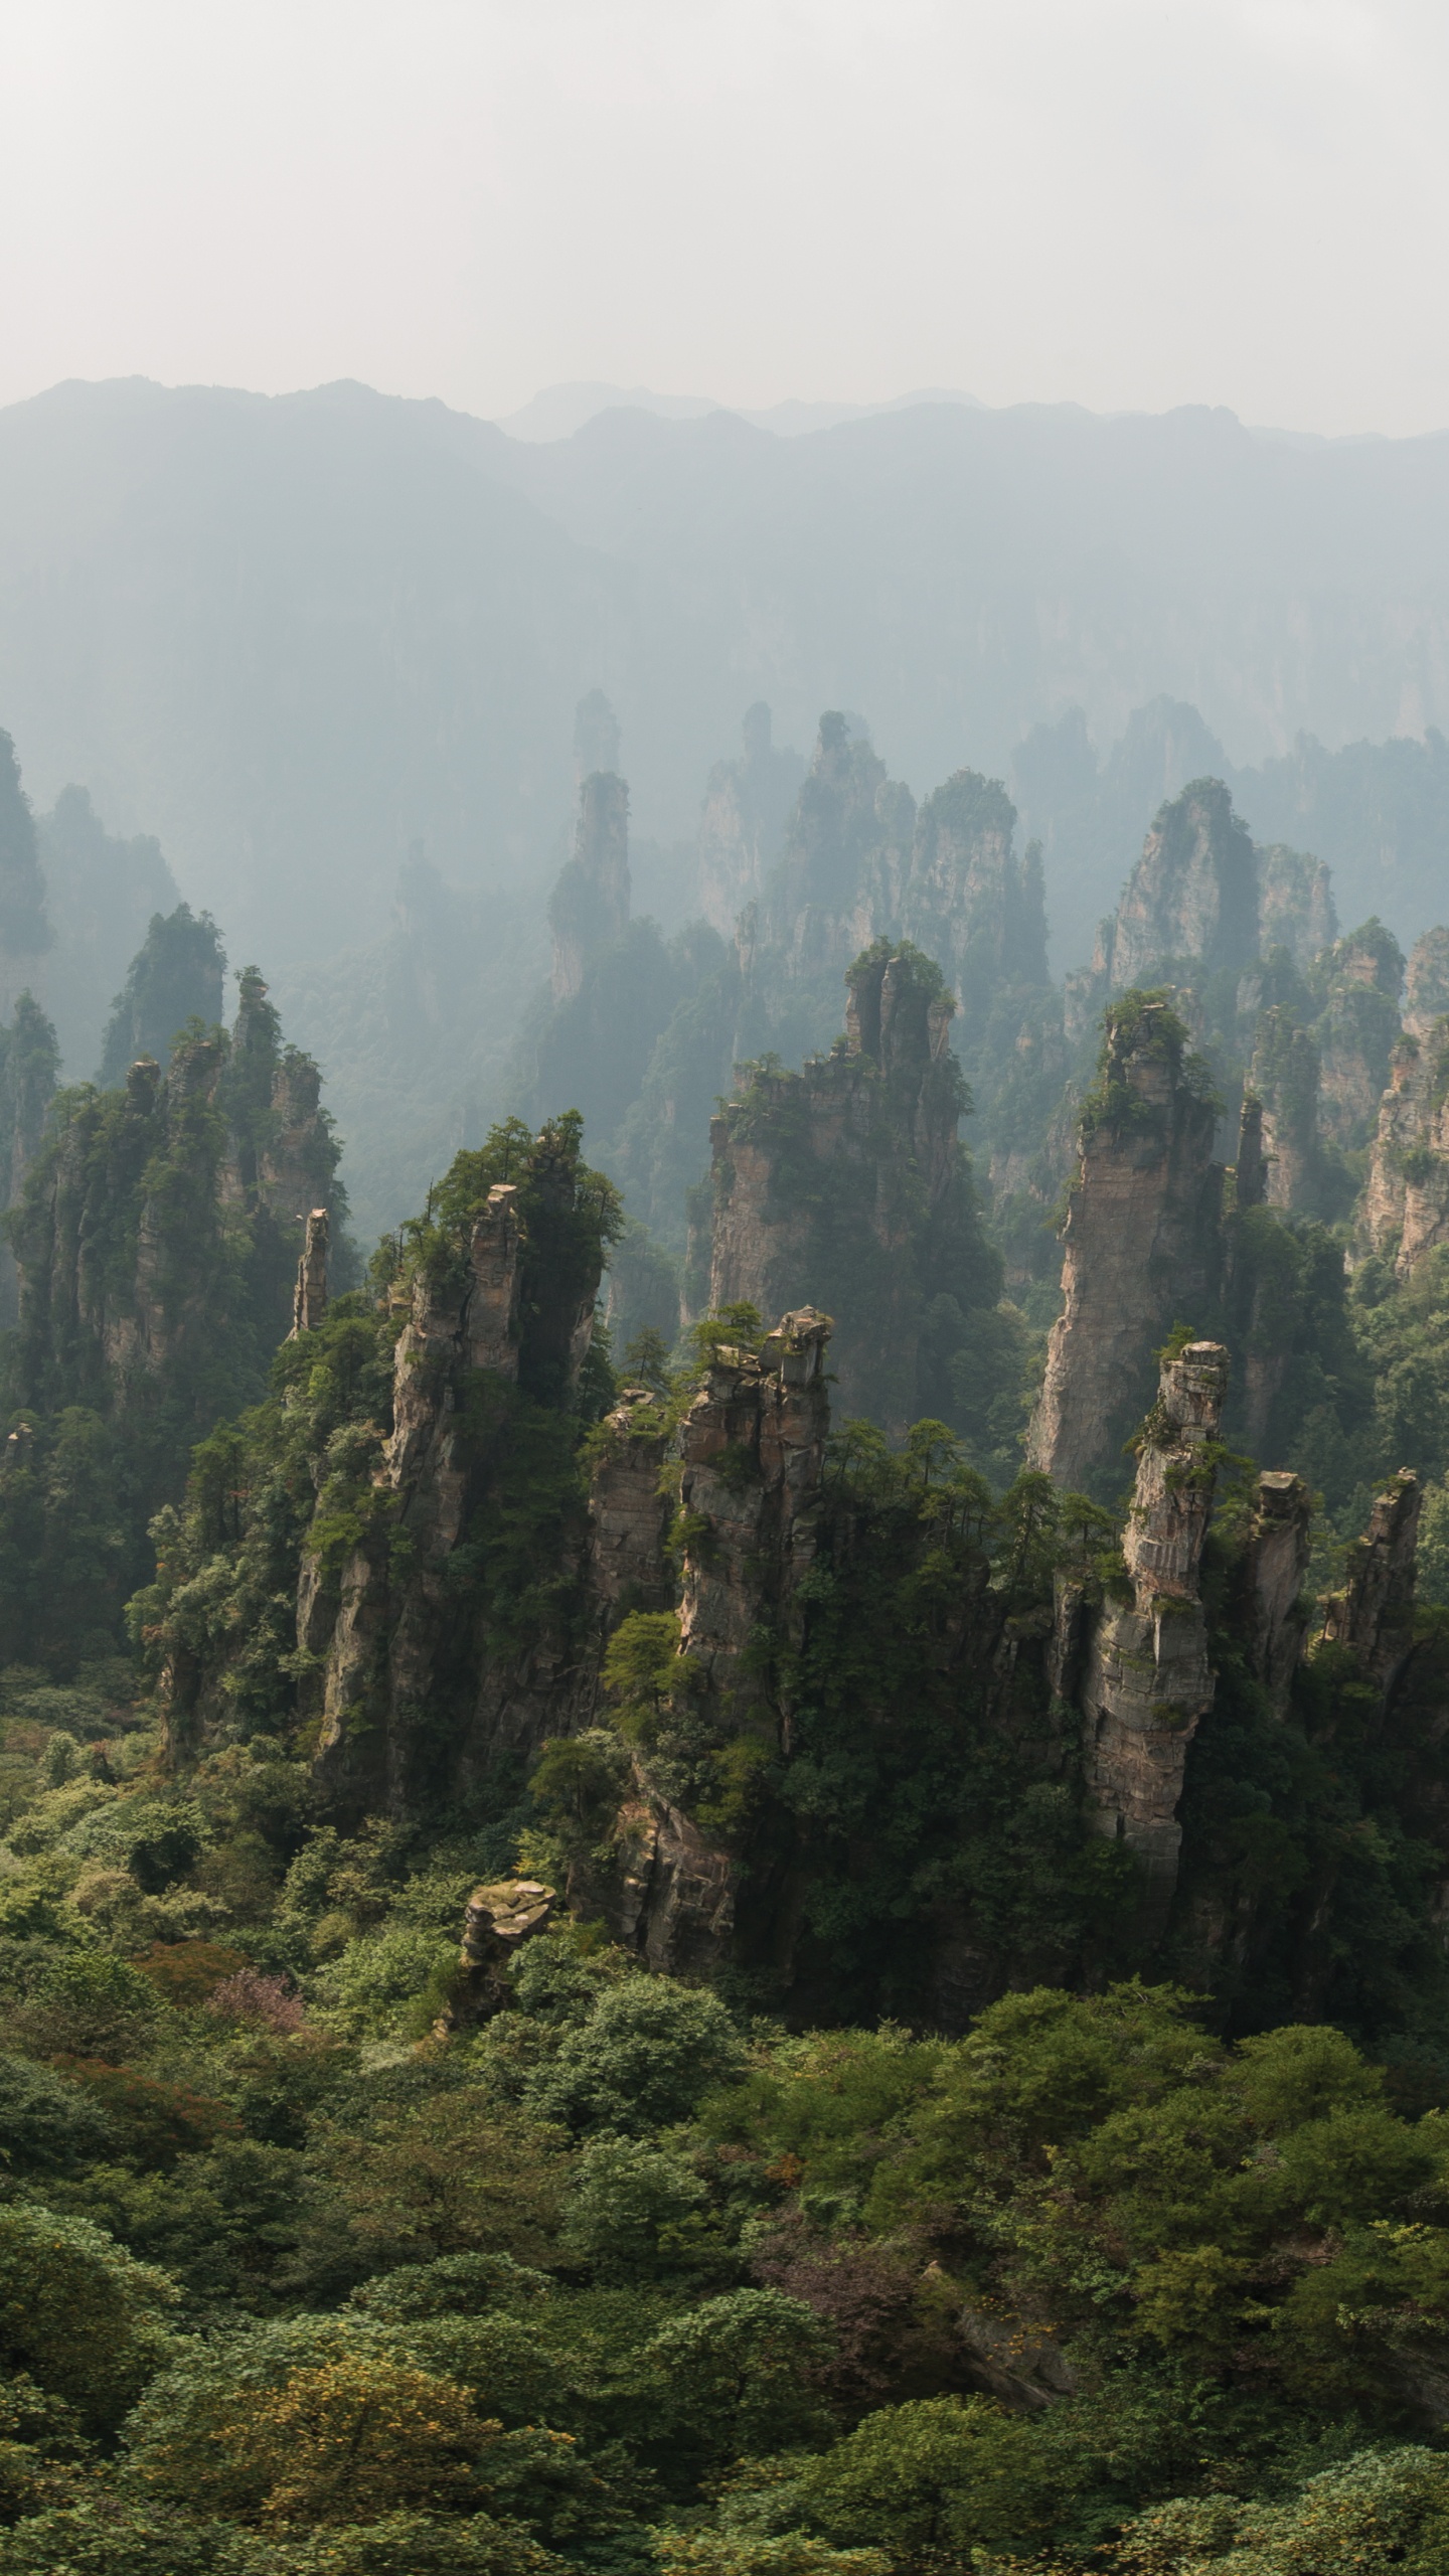
[[[307,961],[382,935],[413,842],[541,904],[593,688],[660,845],[755,698],[784,742],[869,708],[915,783],[1011,775],[1073,706],[1101,747],[1189,703],[1238,770],[1449,726],[1446,505],[1449,438],[1212,410],[920,402],[797,438],[608,410],[523,443],[356,384],[64,384],[0,412],[0,721],[39,809],[85,786],[235,953]],[[1346,909],[1413,938],[1441,904],[1377,866]]]

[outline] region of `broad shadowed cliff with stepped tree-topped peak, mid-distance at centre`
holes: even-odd
[[[748,1069],[712,1121],[714,1311],[835,1301],[846,1412],[905,1430],[923,1301],[969,1224],[951,999],[928,961],[879,943],[851,976],[846,1038],[802,1074]],[[949,1285],[944,1278],[941,1285]]]

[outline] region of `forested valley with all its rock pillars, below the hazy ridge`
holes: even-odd
[[[0,2576],[1436,2576],[1449,930],[619,757],[317,981],[366,1262],[0,775]]]

